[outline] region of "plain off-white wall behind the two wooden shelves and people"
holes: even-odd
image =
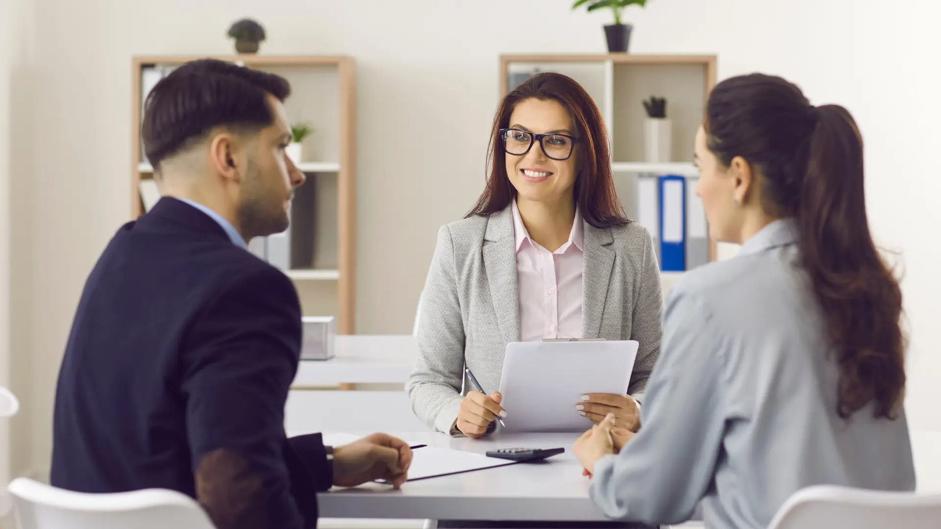
[[[227,54],[228,25],[252,16],[268,33],[263,54],[356,57],[358,330],[409,332],[439,225],[463,216],[483,187],[498,55],[601,52],[608,22],[570,12],[569,0],[33,3],[35,53],[20,85],[30,89],[14,101],[34,109],[14,108],[10,130],[32,153],[18,161],[28,172],[14,178],[22,186],[14,211],[32,224],[14,246],[33,266],[18,298],[25,346],[15,354],[32,365],[40,470],[48,468],[56,373],[77,298],[130,214],[132,55]],[[634,52],[715,53],[720,79],[779,73],[815,103],[853,111],[867,140],[872,226],[881,244],[904,251],[911,422],[941,429],[936,11],[927,1],[656,0],[628,19]]]

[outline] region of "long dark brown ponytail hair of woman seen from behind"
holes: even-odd
[[[894,418],[905,386],[901,288],[869,232],[863,140],[850,112],[815,107],[784,79],[753,73],[712,90],[704,128],[726,167],[742,156],[758,170],[764,209],[797,221],[801,265],[839,365],[837,414],[874,401],[876,418]]]

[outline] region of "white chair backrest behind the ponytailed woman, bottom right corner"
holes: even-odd
[[[768,529],[937,529],[941,494],[819,485],[795,492]]]

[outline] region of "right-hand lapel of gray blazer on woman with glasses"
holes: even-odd
[[[608,299],[608,283],[614,268],[614,235],[585,222],[584,265],[582,272],[582,335],[604,338],[601,316]]]

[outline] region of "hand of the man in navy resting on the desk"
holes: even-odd
[[[356,487],[385,479],[398,489],[406,482],[411,457],[405,441],[373,434],[333,450],[333,485]]]

